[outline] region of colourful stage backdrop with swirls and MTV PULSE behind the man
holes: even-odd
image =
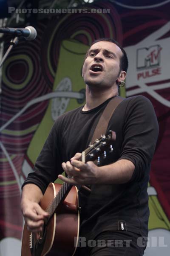
[[[121,96],[144,95],[156,111],[159,139],[148,183],[150,219],[144,255],[169,256],[170,0],[99,1],[79,10],[43,14],[36,25],[37,38],[20,41],[3,64],[0,256],[20,255],[21,186],[33,172],[58,116],[85,104],[85,53],[103,37],[119,41],[127,52],[129,69]],[[11,38],[4,40],[6,52]]]

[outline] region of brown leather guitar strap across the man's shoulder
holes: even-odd
[[[113,112],[115,111],[119,103],[121,103],[124,99],[125,98],[116,96],[113,99],[111,99],[110,102],[108,102],[108,105],[105,107],[102,115],[100,116],[99,122],[96,125],[93,137],[91,139],[91,143],[94,143],[94,141],[98,139],[101,136],[101,134],[106,133],[108,123],[111,119],[111,116],[113,115]],[[94,161],[94,163],[95,162],[96,161]],[[87,195],[91,192],[91,189],[88,186],[84,185],[82,185],[79,190],[81,190]]]

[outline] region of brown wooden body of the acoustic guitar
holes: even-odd
[[[61,184],[56,183],[48,185],[40,202],[42,209],[48,208],[60,187]],[[40,233],[40,239],[37,240],[25,224],[21,256],[73,256],[79,236],[78,207],[77,187],[73,186]]]

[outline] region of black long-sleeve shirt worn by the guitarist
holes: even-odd
[[[90,111],[69,111],[54,123],[44,147],[23,186],[34,183],[45,192],[62,173],[61,163],[88,147],[108,99]],[[113,152],[102,165],[127,159],[134,163],[131,180],[124,184],[92,185],[90,195],[79,193],[80,235],[93,237],[104,230],[125,230],[147,236],[149,218],[147,183],[158,137],[153,106],[144,96],[133,96],[119,104],[108,124],[116,132]],[[90,134],[90,136],[89,136]],[[114,169],[113,169],[114,172]]]

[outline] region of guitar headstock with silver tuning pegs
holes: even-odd
[[[94,161],[103,154],[103,158],[106,158],[106,149],[110,148],[109,152],[113,151],[111,143],[116,140],[116,133],[114,131],[108,131],[107,134],[101,135],[99,139],[96,139],[93,144],[90,144],[85,151],[82,152],[82,162]]]

